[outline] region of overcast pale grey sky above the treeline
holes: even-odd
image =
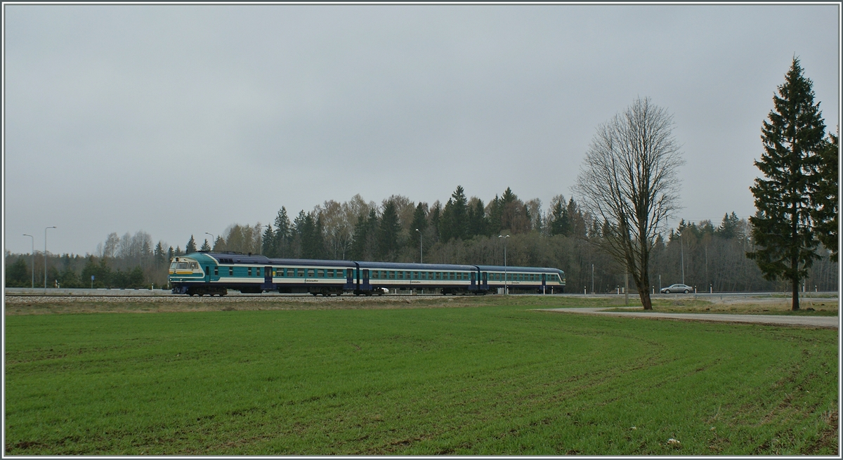
[[[678,217],[754,213],[760,126],[798,56],[839,125],[815,5],[4,4],[4,246],[174,248],[357,193],[545,207],[638,96],[674,115]],[[575,200],[577,199],[574,196]]]

